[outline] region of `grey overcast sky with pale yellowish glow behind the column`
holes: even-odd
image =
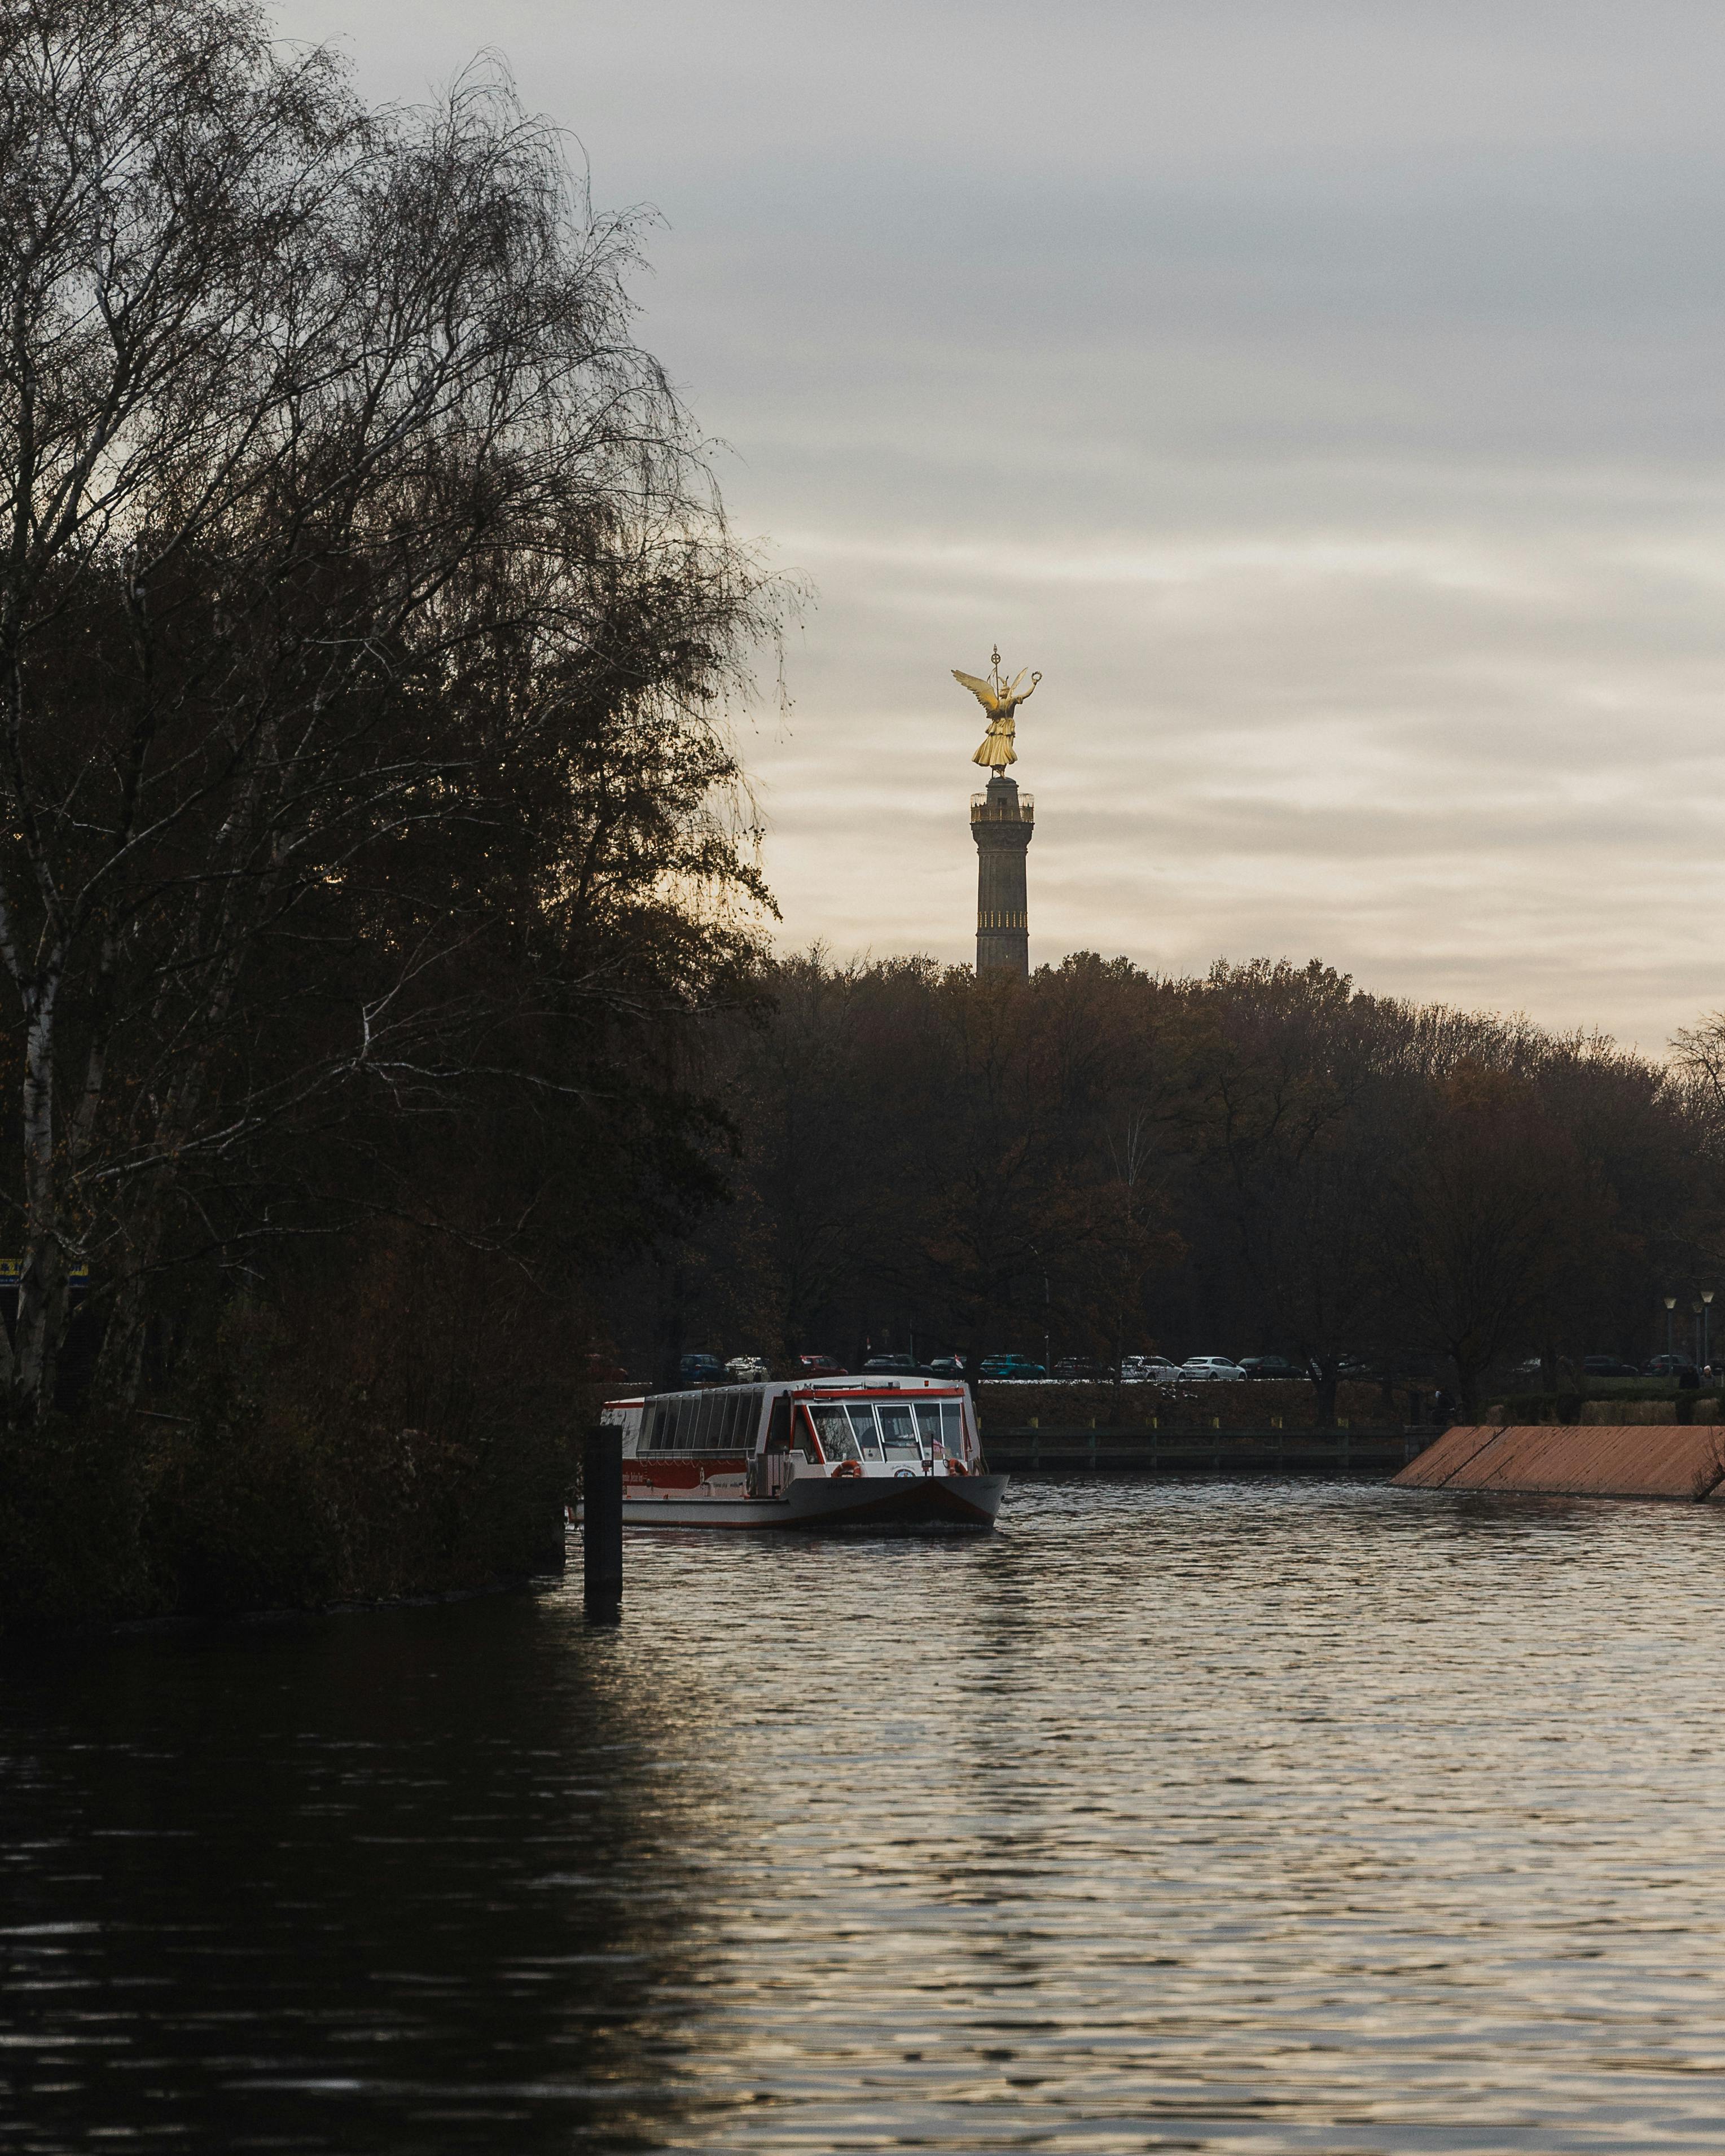
[[[1719,0],[282,0],[489,47],[651,203],[643,341],[815,604],[783,942],[1328,959],[1658,1050],[1725,1005]]]

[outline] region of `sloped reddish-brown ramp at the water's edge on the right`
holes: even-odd
[[[1458,1423],[1402,1468],[1404,1490],[1527,1490],[1725,1503],[1721,1423]]]

